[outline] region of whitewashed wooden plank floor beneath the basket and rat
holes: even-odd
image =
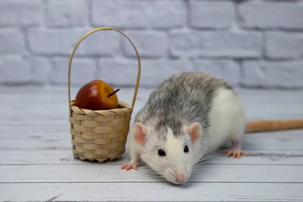
[[[139,89],[134,113],[149,92]],[[248,120],[303,118],[302,91],[239,93]],[[132,95],[118,92],[129,104]],[[69,127],[67,88],[0,88],[0,201],[303,201],[303,130],[246,134],[247,157],[214,157],[175,186],[120,170],[127,154],[74,160]]]

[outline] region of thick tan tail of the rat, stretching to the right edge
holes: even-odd
[[[303,119],[249,121],[245,133],[303,128]]]

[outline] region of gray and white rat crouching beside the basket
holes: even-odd
[[[137,170],[142,160],[165,180],[185,183],[193,165],[227,140],[232,147],[223,153],[246,156],[242,136],[258,131],[258,124],[249,124],[234,88],[223,79],[203,72],[173,74],[135,115],[128,139],[131,160],[121,169]],[[296,125],[302,127],[303,121]]]

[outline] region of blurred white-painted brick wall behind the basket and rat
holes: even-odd
[[[0,84],[66,85],[87,31],[123,31],[142,86],[204,71],[242,87],[303,88],[302,0],[1,0]],[[134,85],[137,60],[115,31],[88,36],[72,84]]]

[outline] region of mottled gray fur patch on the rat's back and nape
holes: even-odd
[[[194,122],[201,124],[207,136],[212,99],[220,87],[232,89],[227,82],[206,73],[174,74],[150,93],[134,122],[153,128],[161,142],[166,140],[168,127],[179,137],[184,134],[182,127]]]

